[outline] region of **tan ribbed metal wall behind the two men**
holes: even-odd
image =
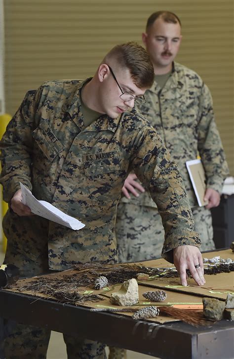
[[[142,44],[147,18],[162,9],[181,18],[177,61],[209,86],[234,175],[234,0],[5,0],[7,112],[46,80],[92,75],[117,43]]]

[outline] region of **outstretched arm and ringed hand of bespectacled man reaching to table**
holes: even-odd
[[[149,188],[161,216],[165,230],[162,257],[175,264],[183,285],[187,285],[186,269],[190,269],[198,285],[204,284],[202,258],[197,248],[201,242],[194,231],[194,219],[183,180],[178,166],[153,130],[149,130],[145,141],[140,142],[133,170]]]

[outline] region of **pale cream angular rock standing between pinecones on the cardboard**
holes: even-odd
[[[118,292],[112,293],[110,301],[118,306],[132,306],[139,302],[138,284],[135,278],[126,280]]]

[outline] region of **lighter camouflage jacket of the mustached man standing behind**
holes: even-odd
[[[145,93],[140,110],[163,140],[178,164],[191,207],[198,206],[186,161],[200,156],[206,186],[222,193],[228,165],[214,121],[212,98],[201,78],[187,67],[174,63],[173,71],[161,90],[154,82]],[[126,198],[121,199],[128,202]],[[156,207],[149,192],[134,197],[132,203]]]

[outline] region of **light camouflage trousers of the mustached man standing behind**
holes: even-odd
[[[215,249],[210,210],[196,207],[192,212],[201,238],[200,250]],[[161,257],[164,229],[157,208],[120,202],[115,230],[120,263]]]

